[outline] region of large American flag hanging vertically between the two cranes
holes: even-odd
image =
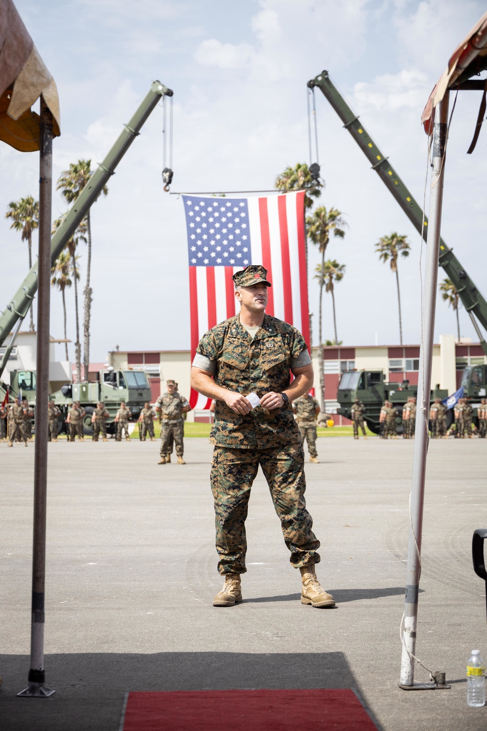
[[[200,338],[236,314],[231,276],[249,264],[268,271],[266,312],[300,330],[310,348],[304,191],[251,198],[183,195],[188,232],[191,357]],[[193,409],[211,400],[191,390]]]

